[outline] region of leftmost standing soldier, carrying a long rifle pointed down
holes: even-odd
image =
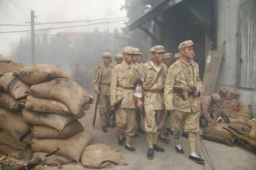
[[[102,131],[107,132],[107,114],[110,110],[110,98],[109,98],[109,90],[110,90],[110,79],[111,71],[113,69],[113,65],[110,63],[111,54],[109,52],[104,52],[101,55],[103,59],[103,63],[98,65],[94,72],[93,78],[93,88],[97,94],[100,94],[99,100],[99,109],[100,109],[100,119]],[[99,89],[100,77],[101,78],[101,89]]]

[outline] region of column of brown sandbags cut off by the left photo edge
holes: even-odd
[[[21,110],[30,86],[11,72],[19,71],[20,68],[18,62],[0,59],[0,74],[3,73],[0,78],[0,153],[28,160],[33,155],[30,150],[32,136]]]

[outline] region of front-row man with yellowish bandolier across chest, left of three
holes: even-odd
[[[126,138],[125,148],[135,152],[135,148],[130,142],[131,137],[135,134],[135,82],[140,75],[137,66],[133,64],[133,47],[124,47],[122,54],[124,61],[112,70],[110,103],[111,109],[114,110],[114,103],[124,97],[120,107],[115,111],[116,126],[119,132],[118,143],[122,145]]]

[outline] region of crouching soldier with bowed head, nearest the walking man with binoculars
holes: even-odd
[[[200,98],[202,109],[202,127],[206,128],[211,125],[215,125],[217,119],[216,105],[221,102],[221,96],[219,94],[212,94],[211,96],[202,96]]]

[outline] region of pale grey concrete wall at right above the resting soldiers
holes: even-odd
[[[249,29],[246,28],[248,25],[256,24],[256,16],[255,13],[253,13],[256,6],[255,3],[252,3],[253,1],[254,0],[217,0],[216,47],[219,50],[224,40],[226,40],[227,43],[215,91],[218,92],[221,87],[227,88],[229,92],[234,88],[238,89],[240,93],[239,101],[244,105],[251,104],[254,112],[253,115],[256,116],[256,88],[253,86],[244,86],[244,84],[241,83],[244,77],[246,77],[247,80],[249,79],[248,82],[252,82],[255,76],[255,74],[252,74],[251,70],[255,69],[255,65],[253,67],[251,62],[255,62],[256,58],[254,42],[254,40],[256,40],[256,27],[252,26]],[[244,3],[251,3],[251,6]],[[251,15],[247,21],[242,17],[245,11],[252,11],[252,13],[247,13],[247,15]],[[249,22],[249,24],[243,24],[246,22]],[[253,29],[254,31],[252,31]],[[241,32],[241,30],[243,32]],[[246,35],[244,35],[245,31]],[[244,52],[245,45],[250,46],[249,52]],[[240,56],[240,54],[242,56]],[[251,67],[247,67],[246,64],[241,64],[242,59],[244,59],[244,63],[250,63]],[[239,68],[240,66],[242,69]],[[246,69],[244,69],[244,67],[246,67]]]

